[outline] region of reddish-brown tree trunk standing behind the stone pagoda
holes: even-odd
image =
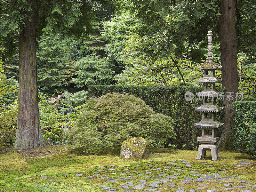
[[[237,77],[237,42],[235,27],[235,0],[220,1],[220,52],[222,86],[227,92],[238,92]],[[221,134],[223,147],[233,148],[234,112],[232,100],[225,100],[226,116],[224,129]]]

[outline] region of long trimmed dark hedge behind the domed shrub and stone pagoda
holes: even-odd
[[[106,93],[128,93],[140,97],[156,113],[171,116],[176,139],[170,139],[169,143],[177,148],[193,149],[199,145],[197,137],[201,130],[194,128],[194,123],[202,120],[202,114],[195,112],[195,107],[202,104],[196,98],[185,100],[185,93],[202,91],[202,87],[194,86],[136,86],[136,85],[92,85],[88,87],[89,97],[100,97]],[[224,92],[224,89],[218,91]],[[222,102],[220,103],[220,106]],[[225,112],[220,113],[219,121],[223,122]],[[218,130],[220,135],[221,130]]]

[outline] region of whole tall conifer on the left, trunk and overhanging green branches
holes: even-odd
[[[19,109],[14,148],[31,149],[45,144],[40,126],[36,75],[36,37],[43,33],[86,34],[90,18],[107,0],[2,0],[0,42],[19,41]],[[11,48],[12,47],[8,47]],[[10,51],[11,52],[11,51]]]

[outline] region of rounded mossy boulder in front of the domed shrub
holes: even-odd
[[[123,142],[121,146],[121,158],[145,159],[148,157],[148,142],[142,137],[133,137]]]

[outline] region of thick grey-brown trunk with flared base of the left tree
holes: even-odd
[[[33,149],[45,144],[40,125],[36,77],[36,0],[31,19],[20,27],[19,107],[16,149]],[[22,14],[28,15],[28,12]]]

